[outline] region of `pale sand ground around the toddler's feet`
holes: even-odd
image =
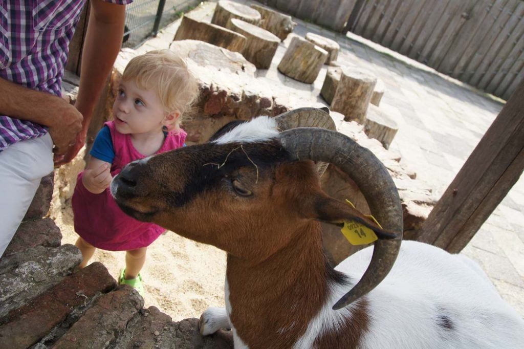
[[[71,201],[51,216],[62,232],[62,244],[74,244]],[[125,252],[96,250],[91,261],[100,261],[117,279],[125,267]],[[214,246],[196,243],[166,232],[152,243],[141,276],[145,308],[155,306],[173,321],[199,318],[208,307],[224,306],[226,254]]]

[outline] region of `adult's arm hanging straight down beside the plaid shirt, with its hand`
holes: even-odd
[[[85,144],[89,123],[105,80],[113,68],[124,35],[125,5],[91,0],[80,69],[80,89],[75,106],[83,115],[82,130],[65,156],[55,165],[71,161]]]

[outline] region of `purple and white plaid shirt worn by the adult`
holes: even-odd
[[[60,96],[69,42],[84,4],[85,0],[0,0],[0,78]],[[45,126],[0,115],[0,151],[46,133]]]

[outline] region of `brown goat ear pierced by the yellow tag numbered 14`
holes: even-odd
[[[316,219],[319,221],[338,226],[343,226],[344,222],[356,221],[373,230],[378,237],[396,237],[396,234],[385,231],[372,219],[346,202],[321,195],[316,199],[314,205]]]

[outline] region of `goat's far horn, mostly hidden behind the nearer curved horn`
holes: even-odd
[[[336,131],[335,122],[329,115],[328,107],[320,109],[312,107],[297,108],[275,116],[275,120],[281,131],[297,127],[320,127]],[[324,174],[328,165],[329,163],[326,162],[316,163],[316,171],[319,173],[319,176]]]

